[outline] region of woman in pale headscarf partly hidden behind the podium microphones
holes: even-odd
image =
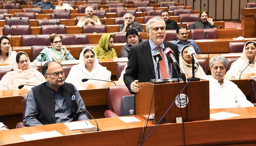
[[[182,70],[182,72],[185,73],[185,75],[187,77],[192,77],[192,57],[191,55],[188,53],[188,49],[192,47],[190,45],[186,45],[184,47],[182,47],[181,49],[181,57],[180,57],[180,69]],[[192,47],[193,48],[193,47]],[[197,71],[196,71],[196,68]],[[203,68],[199,65],[197,66],[195,64],[195,77],[202,77],[202,76],[206,76],[206,73],[204,72]]]

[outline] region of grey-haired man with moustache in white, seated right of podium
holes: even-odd
[[[254,106],[234,82],[223,78],[227,68],[225,57],[212,57],[209,63],[211,76],[205,79],[209,80],[210,109]]]

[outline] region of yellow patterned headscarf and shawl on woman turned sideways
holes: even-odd
[[[97,57],[101,58],[117,58],[116,50],[114,48],[108,50],[110,34],[103,34],[99,40],[99,45],[93,47]]]

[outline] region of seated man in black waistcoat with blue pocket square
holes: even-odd
[[[64,82],[64,73],[59,62],[44,64],[42,74],[47,82],[33,87],[27,95],[26,126],[89,120],[82,114],[86,109],[82,97],[73,84]]]

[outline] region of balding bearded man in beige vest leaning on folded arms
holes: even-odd
[[[85,16],[81,17],[76,26],[84,25],[101,25],[101,21],[98,16],[93,15],[93,8],[87,7],[85,9]]]

